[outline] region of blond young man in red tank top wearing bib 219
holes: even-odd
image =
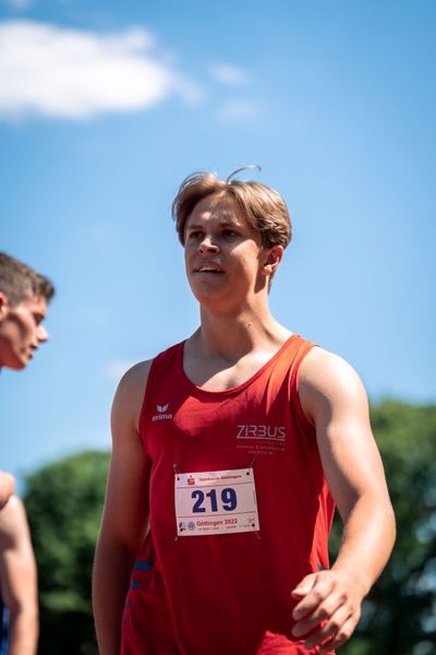
[[[173,215],[201,325],[116,394],[100,654],[330,653],[395,538],[366,394],[348,364],[270,314],[291,237],[276,191],[197,174]]]

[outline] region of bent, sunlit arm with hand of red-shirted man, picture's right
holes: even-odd
[[[343,522],[329,571],[304,577],[292,591],[295,636],[329,653],[351,636],[363,598],[383,571],[395,541],[395,517],[370,425],[366,393],[340,357],[314,348],[300,369],[300,401],[316,429],[330,492]]]

